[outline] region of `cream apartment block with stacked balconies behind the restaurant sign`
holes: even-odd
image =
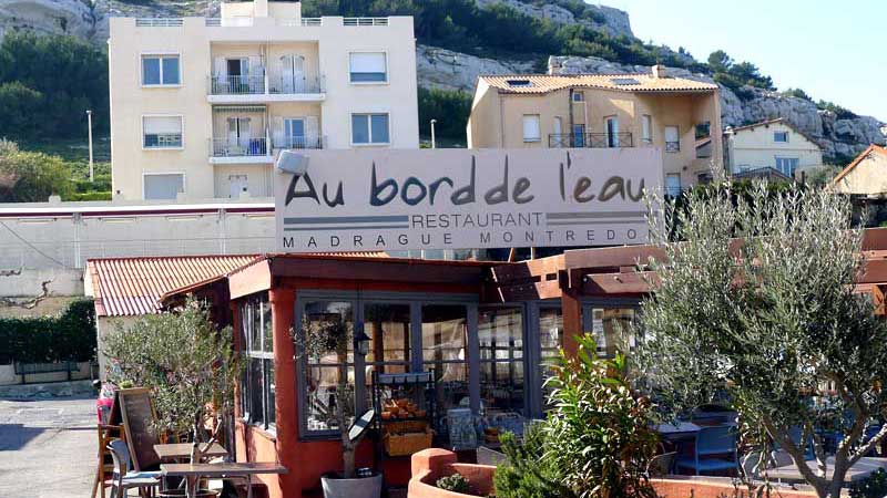
[[[288,148],[419,146],[412,18],[111,18],[111,160],[126,200],[268,197]]]

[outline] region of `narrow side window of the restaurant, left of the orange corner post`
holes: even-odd
[[[251,424],[274,426],[274,328],[266,294],[247,298],[239,305],[241,414]]]

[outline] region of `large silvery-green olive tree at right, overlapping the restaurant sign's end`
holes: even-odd
[[[765,476],[778,445],[818,496],[837,498],[847,470],[887,435],[887,424],[868,430],[887,412],[887,326],[854,291],[864,261],[849,201],[763,183],[685,196],[680,208],[651,197],[662,255],[641,262],[652,292],[639,371],[676,411],[726,393]]]

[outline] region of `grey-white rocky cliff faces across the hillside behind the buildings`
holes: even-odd
[[[577,18],[570,10],[549,2],[520,0],[476,0],[481,8],[504,3],[528,15],[549,19],[555,23],[580,23],[620,37],[633,37],[629,15],[618,9],[589,6],[591,15]],[[218,0],[181,2],[130,3],[118,0],[3,0],[0,2],[0,35],[12,28],[26,28],[41,33],[72,34],[104,45],[108,39],[108,18],[113,15],[215,15]],[[645,66],[632,66],[598,58],[553,56],[560,72],[574,73],[633,73],[646,72]],[[451,50],[419,45],[417,49],[419,84],[471,92],[480,74],[508,74],[533,72],[537,64],[528,61],[508,61],[479,58]],[[675,76],[712,81],[705,74],[694,74],[683,69],[670,69]],[[853,156],[871,143],[884,144],[887,126],[870,116],[838,118],[834,113],[820,111],[807,100],[747,89],[752,97],[740,100],[730,89],[721,89],[723,124],[742,125],[773,117],[784,117],[801,132],[815,139],[827,157]]]

